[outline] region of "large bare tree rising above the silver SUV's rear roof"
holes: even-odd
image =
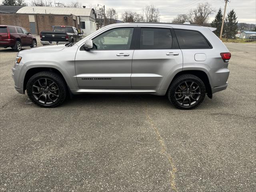
[[[215,10],[211,8],[208,2],[199,3],[195,9],[190,10],[189,21],[192,24],[204,26],[208,22],[209,16],[214,12]]]

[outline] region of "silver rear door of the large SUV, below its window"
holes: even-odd
[[[134,50],[132,89],[159,90],[167,74],[182,62],[180,49]]]

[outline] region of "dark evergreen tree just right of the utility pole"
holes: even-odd
[[[234,12],[234,9],[232,9],[229,13],[228,16],[225,18],[225,35],[226,38],[234,38],[237,33],[237,23],[236,21],[236,13]]]

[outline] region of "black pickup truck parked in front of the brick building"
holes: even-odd
[[[54,26],[52,31],[42,31],[40,40],[42,45],[74,43],[82,39],[81,34],[72,26]]]

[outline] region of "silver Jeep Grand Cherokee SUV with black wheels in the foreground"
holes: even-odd
[[[172,23],[112,24],[76,44],[23,50],[12,68],[15,89],[38,106],[69,94],[167,95],[192,109],[228,86],[230,52],[215,28]]]

